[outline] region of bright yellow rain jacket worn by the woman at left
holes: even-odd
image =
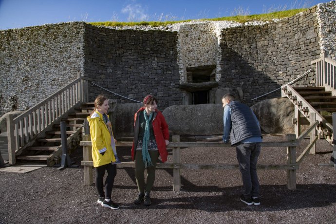
[[[103,120],[103,115],[95,111],[91,116],[88,116],[87,119],[90,124],[93,167],[115,162],[111,146],[111,134]],[[105,151],[104,155],[99,153],[99,150]]]

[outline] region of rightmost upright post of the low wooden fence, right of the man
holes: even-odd
[[[287,134],[288,141],[295,141],[295,134]],[[297,149],[295,146],[287,147],[287,164],[295,165],[296,164],[296,154]],[[287,187],[290,190],[295,190],[297,188],[296,182],[296,169],[287,169]]]

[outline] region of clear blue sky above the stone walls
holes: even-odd
[[[171,21],[308,8],[330,0],[0,0],[0,30],[68,21]]]

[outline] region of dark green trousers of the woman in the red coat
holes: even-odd
[[[158,150],[148,150],[149,156],[153,166],[147,168],[147,180],[146,180],[146,189],[145,189],[145,164],[142,160],[142,150],[136,150],[135,152],[135,179],[136,185],[138,186],[138,190],[140,193],[146,190],[150,192],[151,188],[153,187],[155,181],[155,167],[159,157]]]

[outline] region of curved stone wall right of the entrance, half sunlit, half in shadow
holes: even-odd
[[[243,89],[243,101],[273,91],[314,66],[320,54],[316,7],[279,22],[224,29],[220,87]],[[314,86],[314,73],[295,86]],[[280,96],[280,90],[260,100]]]

